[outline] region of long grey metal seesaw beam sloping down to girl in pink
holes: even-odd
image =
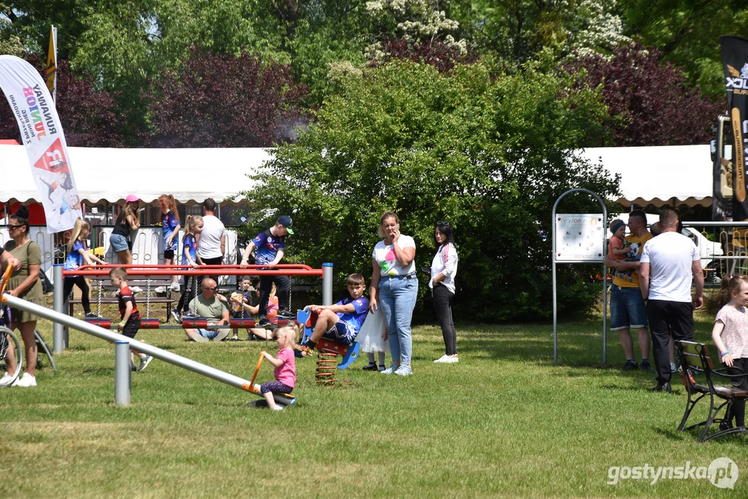
[[[143,352],[147,355],[152,355],[154,358],[157,358],[160,361],[174,364],[177,367],[182,367],[183,369],[190,370],[193,373],[202,374],[203,376],[206,376],[208,378],[215,379],[215,381],[225,383],[226,385],[230,385],[235,388],[240,388],[244,391],[248,391],[251,394],[260,394],[260,386],[257,384],[253,384],[248,379],[239,378],[239,376],[225,373],[224,371],[215,369],[215,367],[206,366],[206,364],[200,364],[200,362],[195,362],[181,355],[168,352],[168,350],[159,349],[156,346],[134,340],[132,338],[123,336],[122,334],[113,333],[111,331],[108,331],[107,329],[99,328],[99,326],[89,324],[88,322],[76,319],[64,313],[49,310],[49,308],[31,303],[30,301],[25,301],[24,299],[20,299],[16,296],[11,296],[7,293],[4,293],[1,296],[1,299],[2,301],[4,301],[4,303],[9,304],[13,308],[17,308],[18,310],[25,310],[27,312],[34,313],[35,315],[44,317],[45,319],[49,319],[52,322],[58,322],[67,325],[67,327],[69,328],[76,328],[79,331],[83,331],[86,334],[91,334],[92,336],[101,338],[102,340],[111,342],[127,341],[132,349],[138,350],[138,352]],[[281,405],[291,405],[296,402],[296,397],[276,397],[276,402]]]

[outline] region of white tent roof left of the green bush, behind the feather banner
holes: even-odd
[[[262,148],[107,149],[70,147],[81,200],[117,203],[135,194],[150,203],[171,194],[182,203],[218,203],[251,188],[248,174],[270,159]],[[0,201],[39,200],[24,147],[0,145]]]

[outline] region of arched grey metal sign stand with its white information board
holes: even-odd
[[[600,203],[602,214],[557,215],[560,201],[572,192],[586,192]],[[558,363],[558,314],[556,304],[557,263],[603,263],[607,253],[607,209],[594,192],[587,189],[569,189],[558,197],[551,213],[553,229],[553,287],[554,287],[554,364]],[[558,227],[563,227],[559,239]],[[600,235],[598,236],[598,231]],[[603,263],[603,364],[607,362],[607,266]]]

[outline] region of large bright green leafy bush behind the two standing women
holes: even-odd
[[[384,210],[416,239],[419,266],[431,261],[433,224],[447,220],[464,269],[462,316],[548,316],[554,200],[571,187],[605,197],[617,183],[571,152],[602,132],[600,94],[545,59],[497,78],[485,62],[447,74],[409,61],[343,76],[316,123],[278,148],[245,193],[264,209],[247,232],[291,213],[289,257],[334,262],[340,284],[351,272],[371,275]],[[589,310],[595,291],[571,269],[561,275],[562,307]]]

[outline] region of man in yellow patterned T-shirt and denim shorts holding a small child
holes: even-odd
[[[624,370],[637,368],[634,360],[634,340],[631,329],[637,330],[639,350],[642,354],[639,368],[649,371],[649,331],[647,330],[647,313],[642,292],[639,289],[639,259],[644,244],[652,239],[647,231],[646,215],[635,209],[628,215],[628,228],[631,234],[626,236],[630,251],[625,260],[613,260],[605,255],[605,265],[616,270],[613,286],[610,289],[610,331],[618,331],[621,348],[626,356]]]

